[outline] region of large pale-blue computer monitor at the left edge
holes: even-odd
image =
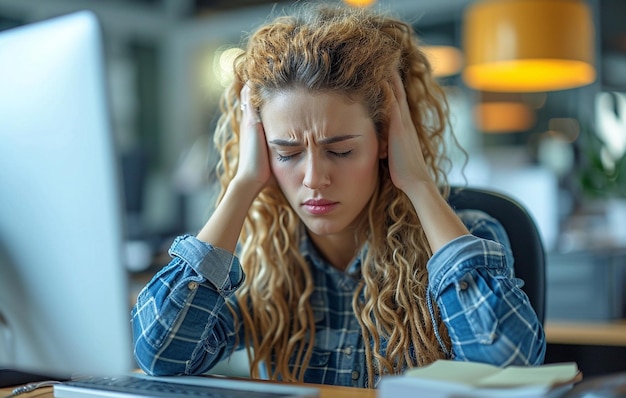
[[[133,368],[103,43],[81,11],[0,32],[0,368]]]

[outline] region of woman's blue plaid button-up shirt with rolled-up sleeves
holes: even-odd
[[[471,235],[449,242],[427,265],[428,299],[431,305],[437,302],[447,326],[449,357],[500,366],[541,364],[543,328],[520,290],[522,282],[513,277],[502,226],[477,211],[459,216]],[[303,235],[301,249],[315,278],[316,322],[305,381],[366,386],[364,342],[352,310],[361,259],[339,271]],[[170,255],[171,262],[141,291],[132,310],[135,358],[152,375],[202,374],[233,348],[244,347],[225,306],[226,300],[234,303],[244,274],[236,256],[189,235],[176,238]]]

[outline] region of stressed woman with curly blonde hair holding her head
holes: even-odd
[[[300,7],[235,62],[222,194],[139,295],[140,367],[200,374],[246,347],[253,377],[374,387],[440,358],[540,364],[502,227],[446,202],[447,104],[411,28]]]

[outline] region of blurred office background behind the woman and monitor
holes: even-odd
[[[449,96],[454,133],[469,153],[463,173],[462,157],[452,153],[459,164],[451,182],[506,192],[534,216],[548,250],[548,321],[619,323],[626,317],[626,1],[561,2],[582,4],[590,25],[576,22],[580,29],[561,35],[562,43],[546,44],[544,36],[531,45],[559,53],[587,46],[592,78],[532,88],[528,76],[485,87],[464,78],[474,62],[469,9],[478,1],[370,6],[411,22],[427,46]],[[173,236],[193,233],[210,214],[218,157],[212,130],[232,59],[247,32],[293,3],[0,0],[0,30],[80,9],[95,11],[102,22],[124,172],[127,262],[136,279],[167,261],[164,249]],[[496,25],[494,15],[483,25]],[[523,29],[538,30],[542,15],[524,14]],[[510,48],[520,45],[514,35],[498,37],[512,40],[505,43]],[[529,86],[507,85],[512,82]],[[555,360],[593,355],[553,346]],[[611,366],[626,368],[623,360]]]

